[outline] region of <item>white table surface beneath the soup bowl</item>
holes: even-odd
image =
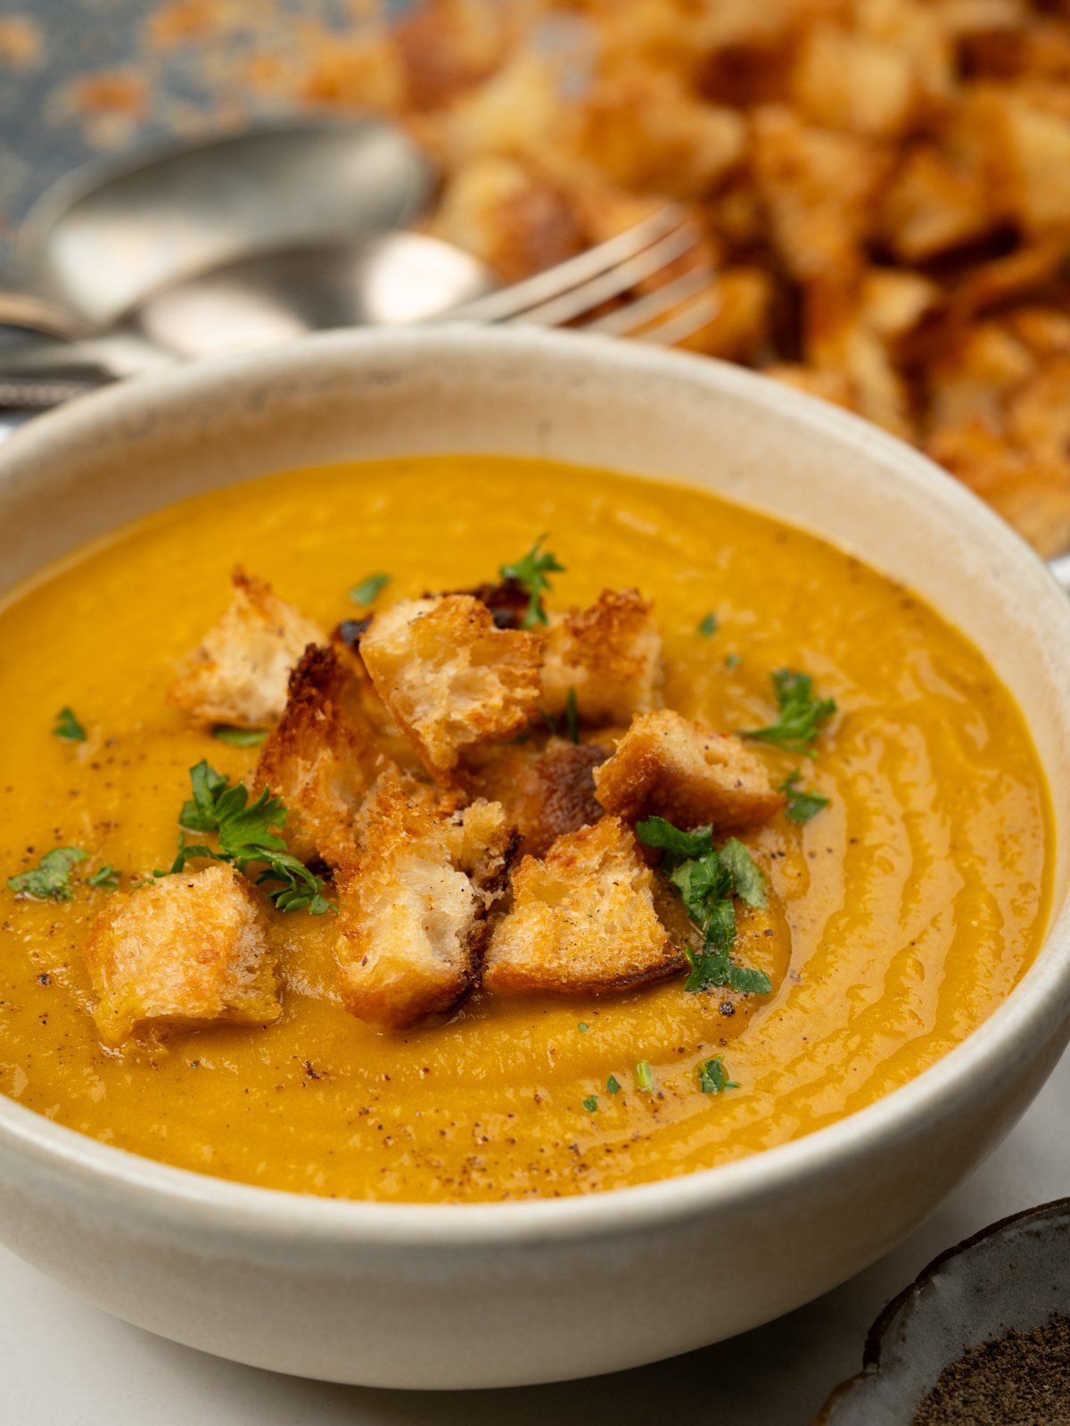
[[[127,1326],[0,1251],[0,1422],[11,1426],[811,1426],[866,1329],[937,1252],[1070,1194],[1070,1054],[1004,1144],[919,1232],[778,1322],[615,1376],[500,1392],[383,1392],[276,1376]],[[655,1310],[651,1303],[651,1310]]]

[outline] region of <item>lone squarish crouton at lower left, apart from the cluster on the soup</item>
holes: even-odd
[[[115,893],[84,948],[100,1038],[264,1024],[279,1015],[275,967],[249,883],[232,867]]]

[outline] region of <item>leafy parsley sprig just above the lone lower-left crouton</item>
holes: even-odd
[[[227,861],[242,876],[249,876],[249,867],[256,864],[261,867],[259,874],[254,877],[256,886],[281,883],[268,890],[279,911],[311,911],[313,915],[322,915],[333,910],[333,904],[323,896],[321,878],[309,871],[303,861],[298,861],[286,851],[286,843],[278,834],[286,823],[286,809],[281,799],[265,789],[254,803],[249,803],[244,783],[231,783],[205,761],[189,769],[189,783],[194,796],[182,803],[178,816],[178,824],[184,831],[178,837],[178,856],[170,873],[182,871],[187,861],[198,857]],[[185,831],[217,833],[219,850],[204,843],[187,843]]]

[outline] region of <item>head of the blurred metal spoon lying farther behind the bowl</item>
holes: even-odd
[[[83,337],[219,264],[406,227],[432,187],[427,160],[378,118],[175,144],[54,184],[19,234],[16,281],[50,302],[47,329],[57,334],[66,314],[63,335]]]

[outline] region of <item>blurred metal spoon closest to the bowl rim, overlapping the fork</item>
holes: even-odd
[[[93,337],[0,351],[0,406],[40,409],[175,361],[309,331],[426,321],[494,285],[476,258],[416,232],[261,254],[162,288]]]

